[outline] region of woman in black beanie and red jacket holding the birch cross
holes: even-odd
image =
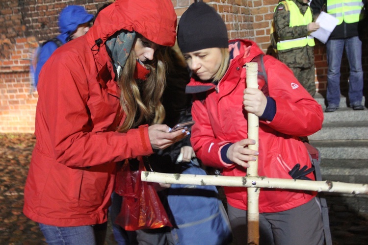
[[[249,40],[228,42],[226,25],[203,2],[193,3],[182,15],[178,44],[193,72],[186,87],[195,98],[191,143],[205,165],[221,168],[225,176],[246,176],[248,161],[259,156],[260,176],[291,179],[295,176],[289,171],[298,164],[311,169],[300,137],[321,128],[323,112],[285,64],[265,55],[268,94],[263,94],[265,86],[246,88],[243,66],[263,51]],[[260,118],[259,152],[247,147],[255,144],[247,139],[248,112]],[[301,177],[314,179],[310,171]],[[236,243],[244,244],[247,189],[224,190]],[[260,244],[323,244],[315,193],[262,189],[259,211]]]

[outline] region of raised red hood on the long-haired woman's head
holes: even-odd
[[[116,0],[103,9],[87,38],[106,39],[124,29],[135,31],[162,46],[174,46],[177,16],[171,0]]]

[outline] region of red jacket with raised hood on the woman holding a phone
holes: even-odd
[[[25,187],[28,218],[55,226],[107,221],[115,163],[153,150],[147,125],[115,131],[125,115],[105,41],[126,29],[173,46],[176,20],[170,0],[116,0],[86,35],[60,47],[47,61],[38,85],[37,142]],[[99,38],[100,48],[95,43]]]

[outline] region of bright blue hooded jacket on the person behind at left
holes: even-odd
[[[62,44],[65,44],[69,41],[70,34],[78,28],[78,25],[90,22],[92,19],[93,15],[88,14],[82,6],[70,5],[65,7],[61,11],[58,20],[61,34],[56,38],[59,39]],[[58,46],[54,42],[47,42],[37,51],[37,65],[34,74],[35,88],[37,88],[38,75],[41,72],[41,68],[57,48]]]

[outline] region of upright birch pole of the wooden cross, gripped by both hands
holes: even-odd
[[[258,63],[249,62],[246,63],[246,83],[247,88],[258,88]],[[258,129],[259,119],[254,113],[248,112],[248,139],[256,141],[255,145],[249,145],[248,148],[258,151]],[[256,161],[248,161],[250,167],[247,169],[247,177],[258,177],[258,157]],[[259,196],[260,188],[248,188],[248,207],[247,207],[247,219],[248,219],[248,245],[258,245],[260,240],[260,211],[259,211]]]

